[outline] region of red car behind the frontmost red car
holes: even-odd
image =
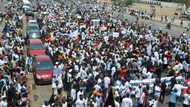
[[[40,39],[29,39],[27,47],[27,55],[36,56],[46,54]]]

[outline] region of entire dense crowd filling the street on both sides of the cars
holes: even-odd
[[[25,107],[29,101],[25,40],[18,33],[24,19],[20,9],[12,12],[15,7],[7,9],[1,37],[3,107]],[[58,72],[50,100],[42,106],[157,107],[168,101],[169,107],[177,102],[189,107],[189,35],[153,30],[113,11],[101,4],[37,1],[33,18]]]

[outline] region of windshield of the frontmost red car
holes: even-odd
[[[53,68],[53,64],[50,61],[38,62],[37,63],[37,70],[49,70]]]

